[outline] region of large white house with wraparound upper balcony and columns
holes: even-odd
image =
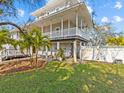
[[[74,62],[81,58],[81,46],[89,42],[87,33],[92,29],[92,20],[83,2],[50,0],[31,15],[36,17],[32,25],[41,27],[43,35],[48,36],[52,42],[48,52],[54,54],[62,48],[65,56],[72,57]],[[18,38],[18,31],[12,33],[14,38]]]

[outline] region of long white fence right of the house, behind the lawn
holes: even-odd
[[[112,63],[119,59],[124,63],[124,47],[100,47],[82,46],[82,60],[100,60]]]

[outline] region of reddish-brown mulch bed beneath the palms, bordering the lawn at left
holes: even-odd
[[[46,62],[43,60],[39,60],[37,64],[34,61],[32,65],[29,60],[0,64],[0,76],[12,74],[16,72],[33,70],[35,68],[44,68],[45,64]]]

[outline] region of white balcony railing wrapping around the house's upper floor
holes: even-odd
[[[78,30],[76,30],[78,29]],[[43,33],[43,35],[48,36],[50,39],[57,39],[57,38],[68,38],[68,37],[81,37],[83,39],[89,40],[89,36],[84,30],[80,30],[79,28],[69,28],[63,29],[63,31],[52,31],[52,33],[47,32]]]

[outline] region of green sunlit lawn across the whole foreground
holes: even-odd
[[[1,77],[0,93],[124,93],[124,65],[52,62]]]

